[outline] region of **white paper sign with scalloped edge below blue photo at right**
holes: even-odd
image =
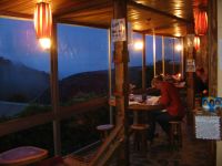
[[[195,137],[202,139],[221,139],[221,117],[195,116]]]

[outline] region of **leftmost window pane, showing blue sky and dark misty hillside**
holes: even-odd
[[[33,22],[0,19],[0,121],[51,111],[49,71]]]

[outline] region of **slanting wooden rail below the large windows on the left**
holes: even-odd
[[[108,105],[107,97],[93,98],[84,103],[78,103],[72,106],[60,106],[59,112],[56,114],[53,112],[41,113],[37,115],[31,115],[28,117],[20,117],[17,120],[11,120],[8,122],[0,123],[0,136],[16,133],[19,131],[28,129],[33,126],[50,123],[54,120],[69,118],[71,115],[93,112],[97,108]]]

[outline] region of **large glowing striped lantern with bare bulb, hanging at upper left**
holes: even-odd
[[[37,3],[34,9],[34,29],[37,38],[44,49],[51,46],[51,27],[52,14],[50,4],[47,2]]]

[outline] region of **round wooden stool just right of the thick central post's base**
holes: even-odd
[[[148,143],[147,143],[147,131],[149,125],[147,124],[133,124],[131,125],[132,132],[134,134],[133,137],[133,147],[137,151],[147,152]]]

